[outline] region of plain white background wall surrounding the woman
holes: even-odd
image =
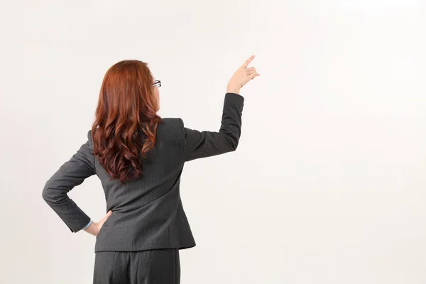
[[[185,165],[181,283],[426,283],[420,0],[1,1],[0,283],[92,283],[94,236],[43,186],[87,139],[115,62],[149,63],[160,116],[217,131],[256,77],[239,148]],[[98,221],[96,176],[70,192]]]

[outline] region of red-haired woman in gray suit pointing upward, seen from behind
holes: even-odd
[[[161,119],[158,87],[147,64],[124,60],[102,82],[87,141],[46,182],[43,199],[72,232],[96,236],[93,283],[180,283],[179,250],[195,246],[180,200],[183,165],[234,151],[241,133],[241,87],[258,76],[234,73],[224,97],[219,132],[196,131],[182,119]],[[67,192],[97,175],[107,215],[92,222]]]

